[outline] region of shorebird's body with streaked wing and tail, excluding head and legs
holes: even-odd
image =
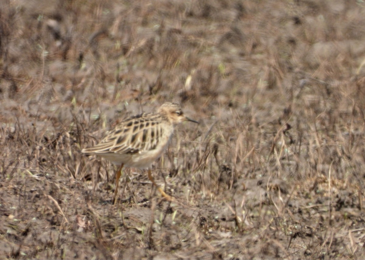
[[[97,145],[82,150],[115,164],[149,167],[166,149],[173,124],[160,113],[143,113],[127,118],[106,133]]]

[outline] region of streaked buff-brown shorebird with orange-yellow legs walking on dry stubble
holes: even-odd
[[[183,113],[177,103],[166,102],[155,113],[142,113],[124,119],[95,146],[82,149],[82,153],[95,154],[119,165],[115,173],[113,204],[118,196],[118,183],[124,166],[148,169],[148,177],[166,200],[173,198],[159,187],[151,174],[151,165],[168,147],[174,128],[190,121],[199,124]]]

